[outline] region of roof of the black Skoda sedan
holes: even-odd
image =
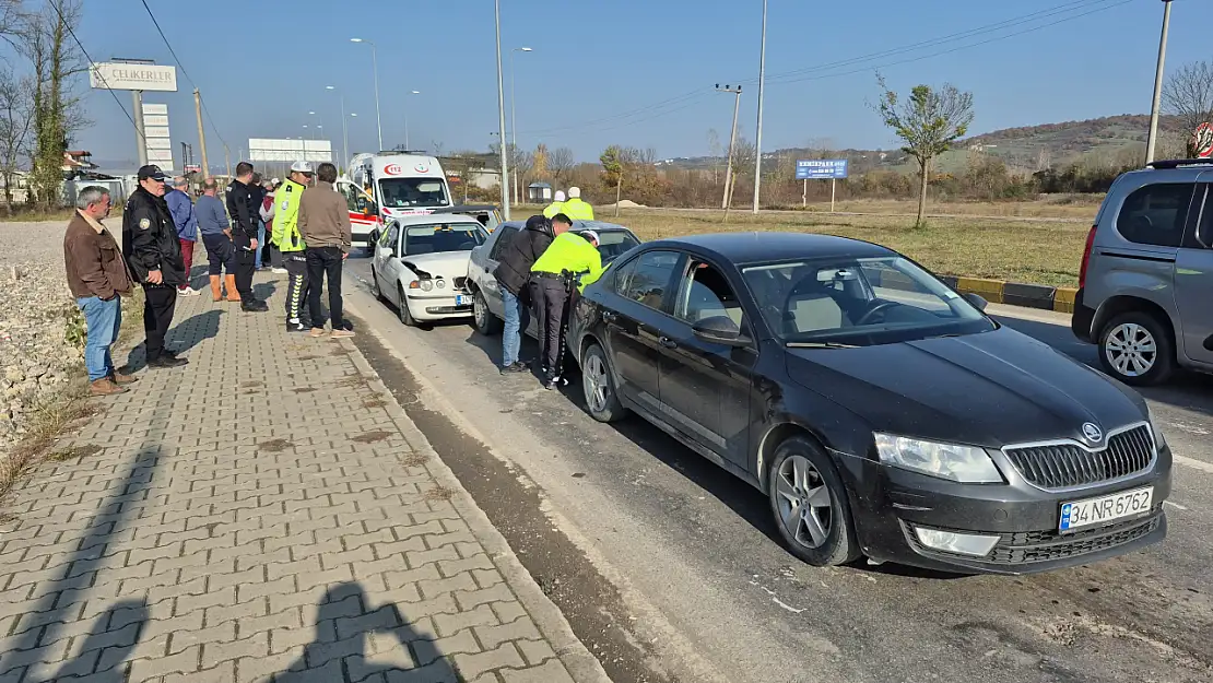
[[[661,239],[645,244],[648,249],[693,247],[735,264],[767,263],[804,257],[878,257],[896,256],[892,249],[858,239],[813,233],[710,233]]]

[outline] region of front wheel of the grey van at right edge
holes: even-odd
[[[1126,385],[1157,385],[1174,372],[1175,346],[1157,317],[1131,311],[1109,320],[1099,332],[1099,363]]]

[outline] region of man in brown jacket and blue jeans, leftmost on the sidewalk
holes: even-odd
[[[131,274],[118,243],[101,223],[109,216],[109,190],[86,187],[76,195],[76,214],[63,235],[63,262],[68,289],[84,312],[89,336],[84,364],[89,369],[89,391],[95,395],[123,393],[121,385],[135,377],[114,370],[109,347],[123,326],[121,295],[131,292]]]

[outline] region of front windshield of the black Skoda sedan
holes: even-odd
[[[742,274],[770,329],[788,345],[875,346],[996,328],[900,256],[808,258]]]

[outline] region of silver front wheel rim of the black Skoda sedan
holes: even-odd
[[[816,550],[833,529],[833,496],[818,468],[802,455],[792,455],[779,466],[775,477],[779,519],[797,543]]]

